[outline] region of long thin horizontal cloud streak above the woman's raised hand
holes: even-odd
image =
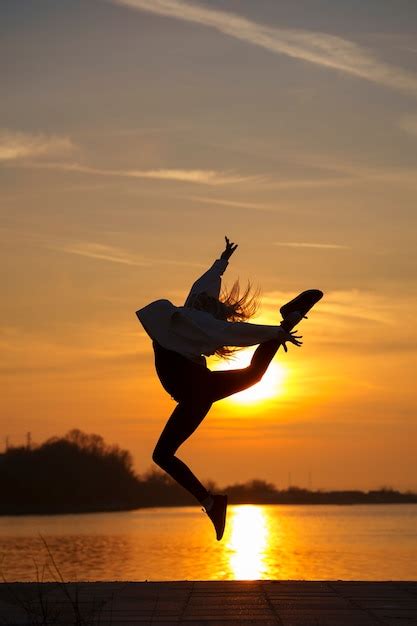
[[[154,170],[113,170],[81,163],[26,163],[26,166],[42,169],[54,169],[65,172],[76,172],[80,174],[92,174],[95,176],[115,176],[121,178],[140,178],[151,180],[165,180],[173,182],[193,183],[197,185],[233,185],[261,180],[260,176],[243,176],[233,172],[223,172],[218,170],[185,170],[185,169],[154,169]]]

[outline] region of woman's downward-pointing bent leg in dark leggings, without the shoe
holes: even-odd
[[[166,423],[152,455],[153,461],[198,502],[203,502],[209,496],[209,492],[175,453],[201,424],[210,407],[210,402],[190,401],[178,404]]]

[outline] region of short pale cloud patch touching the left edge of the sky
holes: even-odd
[[[0,130],[0,162],[60,154],[73,148],[68,137]]]

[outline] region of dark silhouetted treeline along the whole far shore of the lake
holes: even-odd
[[[217,490],[212,484],[211,489]],[[417,503],[416,493],[280,490],[253,480],[224,487],[232,504]],[[119,511],[195,504],[159,471],[138,476],[130,452],[107,445],[99,435],[71,430],[41,445],[10,447],[0,454],[0,515]]]

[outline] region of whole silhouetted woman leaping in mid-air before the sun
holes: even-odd
[[[323,293],[309,289],[281,307],[283,321],[277,326],[251,324],[256,296],[249,287],[241,296],[235,282],[229,293],[220,294],[221,276],[237,245],[227,237],[226,248],[212,267],[191,288],[184,306],[156,300],[136,311],[153,342],[155,368],[164,389],[178,403],[153,452],[153,460],[191,493],[213,522],[216,537],[223,536],[227,496],[215,495],[175,453],[201,424],[213,402],[227,398],[259,382],[280,345],[301,346],[292,330]],[[206,356],[228,357],[233,348],[257,345],[248,367],[211,371]]]

